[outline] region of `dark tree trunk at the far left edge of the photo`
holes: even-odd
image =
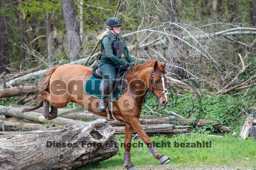
[[[4,6],[3,0],[0,1],[0,8]],[[9,72],[5,65],[9,64],[8,58],[8,34],[6,31],[5,16],[0,15],[0,74],[4,71]]]

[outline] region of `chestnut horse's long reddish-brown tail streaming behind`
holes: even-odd
[[[25,108],[23,109],[21,112],[30,112],[30,111],[34,111],[40,107],[43,106],[43,99],[44,99],[44,96],[43,96],[43,93],[45,90],[49,91],[49,84],[50,84],[50,78],[52,76],[52,73],[58,68],[60,67],[61,65],[58,65],[56,67],[53,67],[52,69],[46,71],[45,73],[45,77],[44,77],[44,83],[42,84],[42,89],[36,93],[35,95],[38,96],[37,99],[34,101],[34,103],[36,103],[39,99],[40,99],[40,102],[39,104],[36,106],[36,107],[33,107],[33,108]],[[34,104],[33,103],[33,104]]]

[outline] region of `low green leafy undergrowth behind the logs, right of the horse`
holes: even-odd
[[[250,102],[250,100],[243,102],[241,98],[231,95],[215,96],[210,93],[204,94],[202,99],[198,99],[193,93],[184,93],[182,96],[168,95],[168,99],[169,103],[166,107],[158,106],[156,116],[169,116],[169,113],[164,111],[166,109],[186,118],[216,120],[220,125],[228,126],[235,132],[240,132],[245,121],[245,117],[241,116],[241,107],[247,108],[246,106]],[[150,98],[146,104],[154,109],[156,102],[155,98]],[[143,106],[142,109],[149,111],[146,106]],[[146,111],[142,111],[141,114],[149,115]],[[250,113],[248,110],[246,112]],[[190,125],[196,126],[195,123],[190,123]],[[192,131],[197,130],[192,128]],[[212,125],[206,125],[200,129],[200,132],[216,133],[217,131]]]

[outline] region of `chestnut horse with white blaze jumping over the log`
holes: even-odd
[[[118,121],[125,122],[124,167],[129,170],[136,169],[130,162],[131,147],[128,147],[134,130],[140,135],[160,164],[170,162],[167,156],[160,154],[156,150],[139,121],[142,105],[148,92],[156,97],[161,106],[166,106],[169,101],[165,88],[165,66],[166,61],[159,63],[156,59],[148,59],[144,64],[132,66],[126,73],[126,89],[122,91],[120,98],[113,102],[114,117]],[[68,102],[74,102],[96,115],[107,117],[106,112],[97,109],[100,99],[86,95],[82,91],[83,85],[91,73],[92,69],[84,65],[59,65],[53,67],[45,73],[42,90],[38,93],[40,95],[38,98],[41,99],[40,103],[36,107],[24,109],[23,112],[38,109],[44,103],[50,103],[52,111],[54,111],[54,108],[62,108]],[[64,77],[68,78],[65,79]],[[44,120],[54,118],[50,113],[49,116],[42,116]]]

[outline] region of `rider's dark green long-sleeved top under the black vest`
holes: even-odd
[[[120,41],[120,38],[117,37],[115,34],[113,34],[112,32],[110,34],[112,34],[116,38],[117,41]],[[131,54],[130,54],[128,48],[127,48],[126,42],[124,40],[124,37],[121,36],[121,35],[119,35],[119,36],[122,38],[122,41],[124,43],[124,49],[123,49],[124,57],[126,58],[128,63],[133,63]],[[100,59],[100,62],[114,64],[114,65],[116,65],[116,64],[124,65],[125,61],[123,61],[122,59],[116,57],[116,55],[113,54],[111,38],[106,36],[102,40],[102,44],[104,46],[104,50],[105,50],[107,56],[102,55],[101,59]]]

